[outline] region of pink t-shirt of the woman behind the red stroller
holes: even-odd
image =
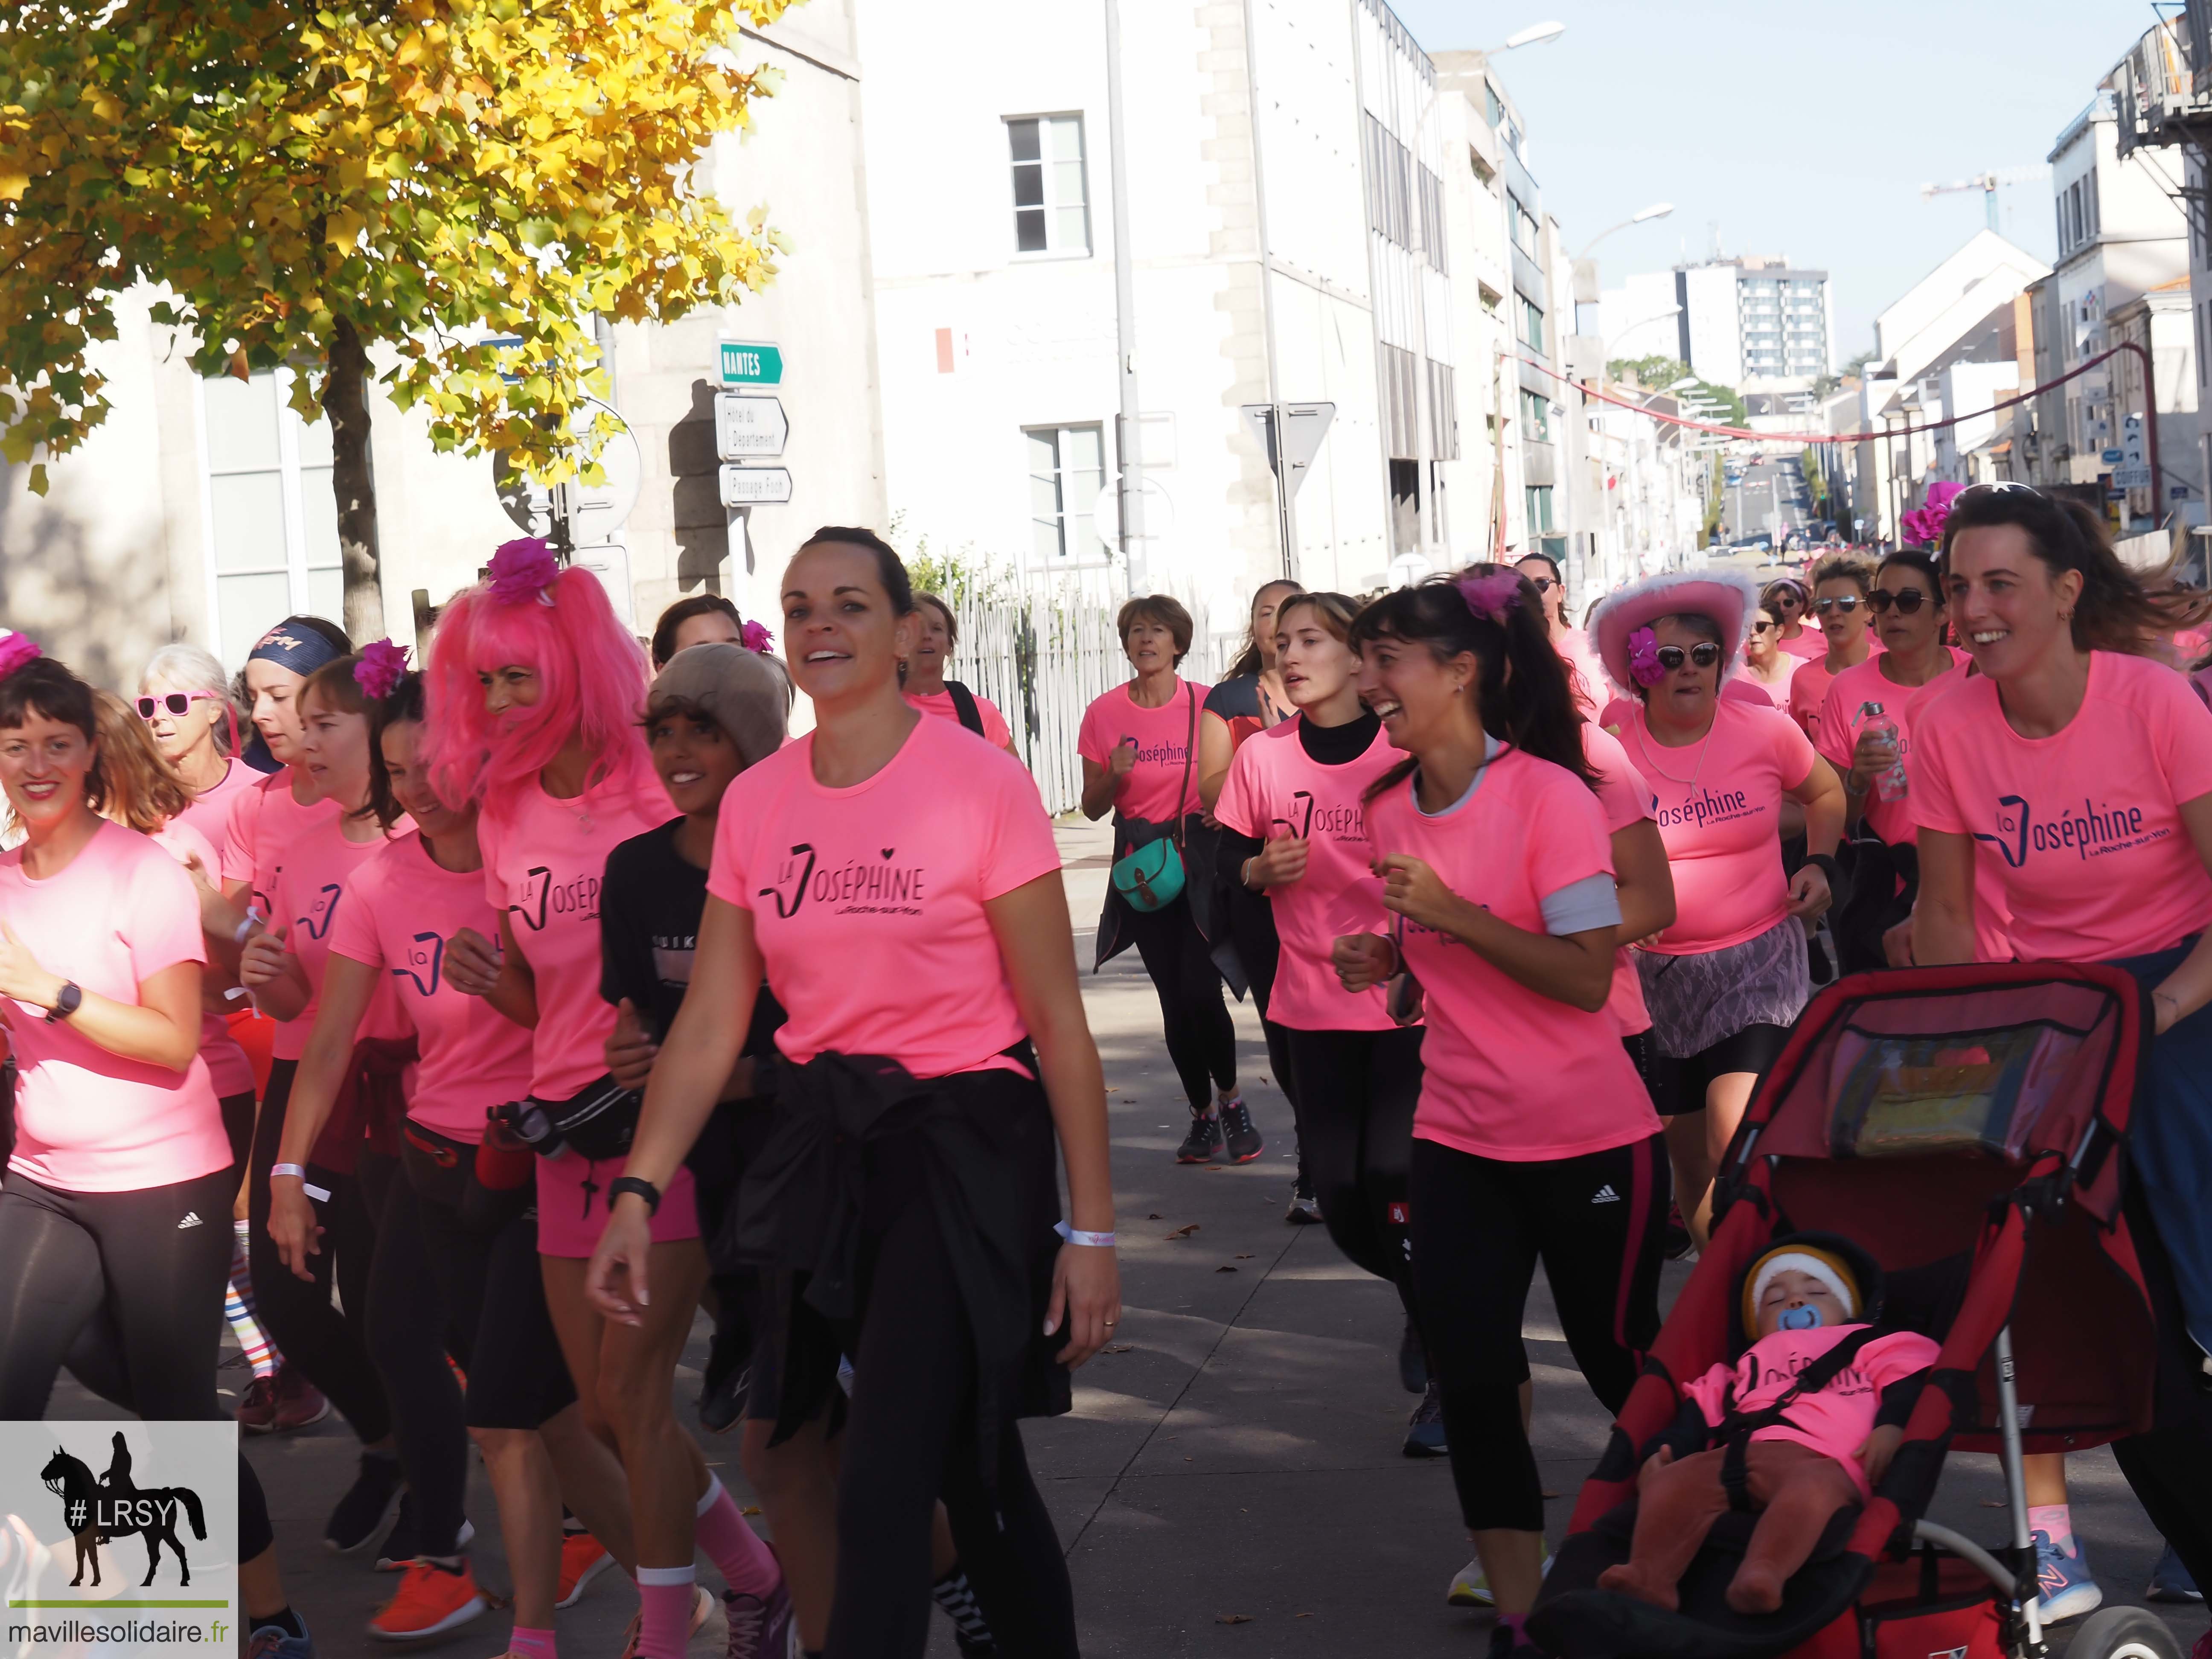
[[[1913,821],[1973,836],[2028,962],[2163,951],[2212,922],[2181,803],[2212,794],[2212,710],[2163,664],[2095,650],[2053,737],[2020,737],[1975,675],[1920,710]]]

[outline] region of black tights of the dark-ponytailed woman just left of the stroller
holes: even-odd
[[[1442,1387],[1451,1480],[1469,1531],[1544,1531],[1520,1420],[1522,1312],[1537,1261],[1590,1394],[1619,1411],[1659,1334],[1666,1141],[1506,1164],[1413,1141],[1413,1298]]]

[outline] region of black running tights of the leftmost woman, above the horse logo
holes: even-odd
[[[0,1420],[35,1420],[71,1345],[113,1321],[142,1418],[217,1420],[237,1177],[137,1192],[0,1181]]]

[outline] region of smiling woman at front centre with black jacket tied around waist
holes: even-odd
[[[1060,854],[1011,754],[900,697],[914,595],[880,538],[823,529],[779,586],[816,726],[723,799],[690,987],[593,1296],[635,1321],[668,1294],[648,1219],[730,1079],[765,971],[787,1020],[737,1228],[776,1270],[783,1433],[830,1409],[838,1354],[854,1363],[827,1648],[922,1652],[942,1498],[1000,1646],[1073,1657],[1066,1566],[1015,1427],[1068,1409],[1066,1367],[1119,1321],[1106,1095]]]

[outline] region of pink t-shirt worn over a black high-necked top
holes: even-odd
[[[1270,887],[1267,905],[1283,951],[1274,969],[1267,1018],[1292,1031],[1389,1031],[1380,987],[1347,993],[1336,982],[1329,951],[1347,933],[1383,933],[1383,880],[1367,845],[1360,796],[1405,754],[1383,732],[1367,752],[1343,765],[1323,765],[1298,741],[1292,717],[1254,732],[1230,761],[1214,818],[1241,836],[1276,841],[1305,836],[1305,874],[1290,887]],[[1234,872],[1230,872],[1234,878]]]

